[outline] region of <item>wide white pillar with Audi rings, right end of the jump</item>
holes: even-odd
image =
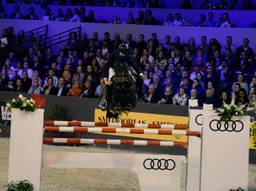
[[[203,111],[200,191],[248,188],[250,118],[219,121],[214,111]]]

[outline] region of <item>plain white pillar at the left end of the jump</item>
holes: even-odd
[[[40,190],[44,110],[12,109],[8,182],[29,180]]]

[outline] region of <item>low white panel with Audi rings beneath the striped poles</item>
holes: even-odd
[[[44,155],[44,166],[132,170],[138,176],[141,191],[179,191],[181,187],[181,164],[185,160],[184,156],[173,155],[68,152],[64,155],[62,153],[58,160],[52,161],[50,160],[51,155],[56,156],[55,153]],[[153,166],[150,166],[151,162]],[[158,162],[161,169],[158,168]],[[174,164],[175,166],[173,166]],[[144,165],[149,169],[146,169]]]

